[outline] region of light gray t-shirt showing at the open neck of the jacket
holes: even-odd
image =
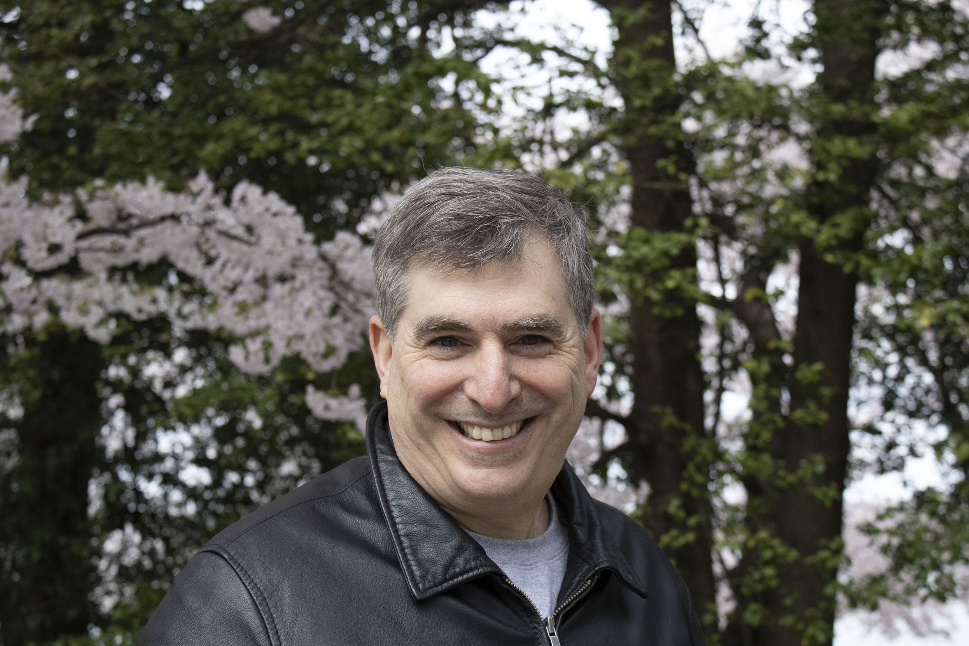
[[[535,538],[515,540],[490,538],[468,532],[485,548],[488,558],[521,588],[543,617],[555,611],[555,601],[569,560],[569,532],[558,520],[558,510],[550,495],[546,496],[550,519],[548,529]]]

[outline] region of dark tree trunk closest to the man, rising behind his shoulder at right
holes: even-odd
[[[632,173],[632,225],[650,236],[689,233],[692,200],[687,177],[693,162],[679,124],[682,95],[674,77],[671,4],[600,4],[618,28],[610,71],[625,102],[622,136]],[[663,284],[677,270],[685,280],[696,280],[692,241],[669,262],[673,272],[651,273],[647,284]],[[642,522],[683,575],[707,631],[715,631],[706,497],[709,468],[700,449],[705,389],[701,325],[696,300],[686,292],[674,287],[658,299],[631,294],[635,400],[626,447],[632,456],[633,481],[649,484]]]

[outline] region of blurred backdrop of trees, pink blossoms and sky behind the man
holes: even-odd
[[[443,166],[589,212],[569,460],[708,643],[969,634],[969,3],[0,5],[0,644],[131,644],[363,454],[369,244]]]

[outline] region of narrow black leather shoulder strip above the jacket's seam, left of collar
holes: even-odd
[[[237,538],[253,531],[260,531],[262,526],[265,525],[265,521],[269,519],[278,519],[280,516],[285,516],[306,503],[338,496],[369,474],[370,463],[366,456],[356,457],[344,462],[336,469],[313,478],[290,493],[275,499],[265,507],[258,508],[244,516],[219,532],[215,538],[208,542],[207,546],[226,547]]]

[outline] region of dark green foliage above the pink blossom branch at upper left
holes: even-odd
[[[261,34],[232,0],[22,4],[0,56],[39,116],[10,172],[37,190],[149,174],[177,189],[205,169],[321,214],[307,226],[326,232],[471,145],[462,96],[486,94],[485,77],[432,52],[461,14],[439,25],[432,7],[384,0],[266,6],[282,19]]]

